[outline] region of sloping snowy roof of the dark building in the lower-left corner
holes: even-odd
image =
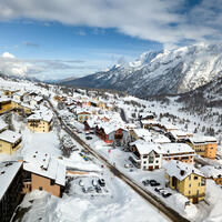
[[[3,198],[12,180],[21,168],[21,162],[10,161],[0,163],[0,200]]]

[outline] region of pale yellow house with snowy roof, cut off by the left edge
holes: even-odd
[[[12,154],[21,148],[21,134],[10,130],[0,133],[0,153]]]

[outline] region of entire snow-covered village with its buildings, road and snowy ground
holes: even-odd
[[[221,125],[212,135],[175,97],[14,79],[0,91],[1,221],[222,219]]]

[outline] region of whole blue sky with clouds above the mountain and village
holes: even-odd
[[[82,77],[148,50],[220,42],[221,0],[0,0],[0,70]]]

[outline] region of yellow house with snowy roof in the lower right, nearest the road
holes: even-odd
[[[186,196],[192,203],[205,198],[205,178],[192,164],[170,161],[164,165],[167,185]]]

